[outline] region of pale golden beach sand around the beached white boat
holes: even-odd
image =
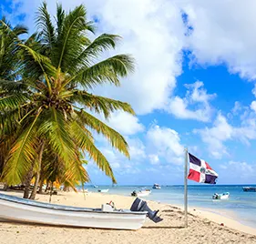
[[[21,196],[21,193],[8,194]],[[46,202],[49,199],[44,195],[37,195],[36,198]],[[102,203],[110,200],[115,202],[117,208],[130,208],[134,198],[100,193],[90,193],[84,198],[82,193],[60,193],[53,196],[52,203],[99,208]],[[189,228],[184,229],[183,212],[180,208],[153,201],[148,201],[148,206],[159,209],[164,220],[155,224],[147,219],[144,227],[137,231],[76,229],[0,222],[0,243],[256,243],[256,229],[243,226],[216,213],[191,208]],[[220,226],[220,223],[224,223],[224,226]]]

